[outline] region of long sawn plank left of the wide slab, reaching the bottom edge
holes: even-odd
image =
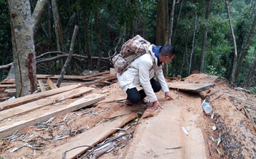
[[[93,129],[86,131],[83,134],[79,134],[72,139],[69,139],[69,142],[65,144],[61,144],[58,147],[53,148],[48,152],[42,154],[37,159],[44,159],[44,158],[62,158],[63,152],[67,150],[71,150],[75,147],[79,147],[82,145],[90,145],[95,146],[98,142],[103,141],[106,139],[107,136],[112,135],[115,133],[115,128],[121,128],[125,126],[126,123],[132,121],[137,116],[137,113],[131,113],[128,115],[123,115],[117,120],[112,122],[105,122],[101,123],[98,126],[95,126]],[[77,155],[81,155],[83,152],[89,150],[90,147],[79,147],[75,148],[66,153],[66,158],[74,159],[77,158]]]

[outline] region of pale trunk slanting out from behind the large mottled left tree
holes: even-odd
[[[47,7],[49,0],[41,0],[41,1],[37,1],[36,3],[36,8],[33,11],[33,15],[32,15],[32,28],[33,28],[33,34],[34,36],[36,36],[36,32],[40,27],[40,22],[42,20],[42,17],[44,15],[45,9]]]

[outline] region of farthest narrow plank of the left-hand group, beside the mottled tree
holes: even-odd
[[[27,96],[24,96],[24,97],[19,97],[19,98],[12,99],[12,100],[9,100],[9,101],[1,102],[0,111],[7,110],[7,109],[9,109],[11,107],[15,107],[17,105],[23,105],[27,102],[32,102],[32,101],[35,101],[35,100],[38,100],[38,99],[49,97],[49,96],[52,96],[54,94],[59,94],[61,92],[69,91],[71,89],[76,89],[79,86],[81,86],[81,84],[74,84],[74,85],[71,85],[71,86],[64,86],[64,87],[61,87],[61,88],[58,88],[58,89],[51,89],[49,91],[39,92],[39,93],[36,93],[36,94],[30,94],[30,95],[27,95]]]

